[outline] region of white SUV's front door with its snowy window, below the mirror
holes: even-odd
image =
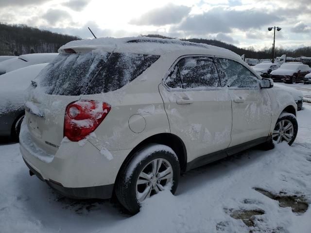
[[[218,58],[221,84],[232,100],[232,131],[229,147],[252,140],[264,140],[271,126],[271,100],[259,79],[241,63]]]

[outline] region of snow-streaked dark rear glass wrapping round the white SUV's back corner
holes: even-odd
[[[78,96],[114,91],[137,78],[159,56],[109,53],[60,54],[39,75],[50,95]]]

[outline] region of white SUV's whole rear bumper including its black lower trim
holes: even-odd
[[[71,198],[108,199],[112,196],[118,171],[130,150],[110,151],[113,159],[108,160],[88,141],[83,146],[64,142],[51,155],[38,148],[31,137],[23,123],[20,152],[39,179]]]

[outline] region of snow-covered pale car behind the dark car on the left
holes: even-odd
[[[3,61],[0,63],[0,75],[13,70],[28,67],[35,64],[50,63],[58,53],[32,53],[24,54],[18,57]],[[2,76],[0,77],[0,79]]]

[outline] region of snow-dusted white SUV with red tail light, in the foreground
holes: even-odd
[[[229,50],[135,37],[59,53],[32,82],[20,150],[30,174],[66,196],[115,192],[137,213],[174,193],[180,172],[296,137],[293,97]]]

